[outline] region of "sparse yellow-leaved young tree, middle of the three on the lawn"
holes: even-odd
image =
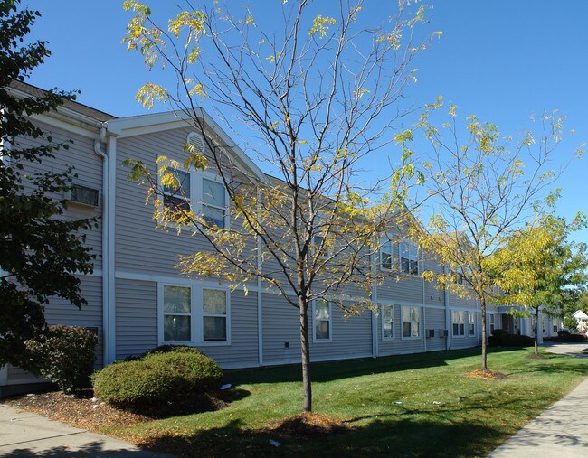
[[[425,272],[426,279],[436,280],[453,294],[479,300],[481,369],[488,370],[486,311],[497,295],[492,259],[507,237],[525,223],[529,211],[542,205],[540,199],[548,205],[555,201],[557,191],[548,188],[556,174],[547,170],[547,164],[562,139],[563,120],[556,114],[545,116],[541,136],[535,138],[528,131],[517,141],[472,116],[462,143],[456,107],[450,107],[450,122],[441,130],[432,125],[432,113],[442,106],[440,98],[427,107],[417,126],[432,154],[422,163],[426,195],[414,198],[422,211],[429,212],[429,220],[413,225],[413,237],[447,267],[441,273]],[[403,134],[407,156],[412,140],[412,131]],[[455,281],[457,276],[462,282]]]

